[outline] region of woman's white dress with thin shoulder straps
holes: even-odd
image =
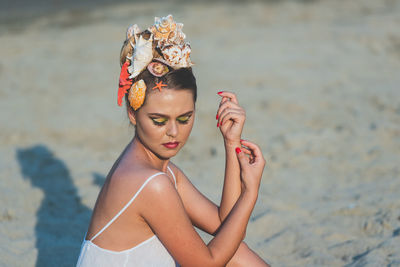
[[[169,167],[167,168],[174,178],[176,187],[175,175]],[[161,174],[165,173],[159,172],[147,178],[136,194],[131,198],[131,200],[103,227],[103,229],[95,234],[90,240],[83,240],[79,259],[76,264],[77,267],[179,266],[179,264],[175,262],[156,235],[153,235],[149,239],[134,246],[133,248],[123,251],[104,249],[92,242],[130,206],[130,204],[135,200],[146,184],[151,181],[151,179]]]

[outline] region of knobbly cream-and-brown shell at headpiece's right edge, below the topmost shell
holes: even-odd
[[[161,49],[165,61],[173,68],[192,66],[190,61],[191,48],[188,43],[183,45],[167,45]]]

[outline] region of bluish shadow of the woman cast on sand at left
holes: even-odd
[[[35,226],[36,266],[75,266],[92,211],[82,204],[65,163],[45,145],[16,152],[23,177],[44,193]]]

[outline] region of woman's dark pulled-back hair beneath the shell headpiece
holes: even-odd
[[[197,99],[197,85],[196,78],[193,75],[192,68],[180,68],[177,70],[170,69],[170,72],[165,74],[162,77],[156,77],[152,75],[147,68],[142,71],[135,79],[134,82],[143,80],[146,83],[146,96],[150,93],[152,88],[159,82],[166,84],[168,87],[165,89],[173,89],[173,90],[190,90],[193,93],[193,101],[196,103]],[[125,94],[125,102],[128,107],[128,112],[134,111],[131,105],[129,104],[128,94]],[[146,104],[146,98],[144,99],[143,105]],[[142,106],[143,106],[142,105]],[[139,108],[140,109],[140,108]],[[136,111],[138,111],[137,109]]]

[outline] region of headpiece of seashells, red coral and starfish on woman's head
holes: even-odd
[[[126,31],[126,45],[121,52],[124,62],[121,66],[118,88],[118,105],[129,90],[128,100],[134,110],[143,105],[146,83],[133,80],[144,70],[157,77],[162,77],[169,69],[188,68],[193,65],[190,60],[190,44],[185,42],[182,32],[183,24],[176,23],[172,15],[154,19],[154,25],[141,31],[134,24]],[[157,83],[153,89],[166,86]]]

